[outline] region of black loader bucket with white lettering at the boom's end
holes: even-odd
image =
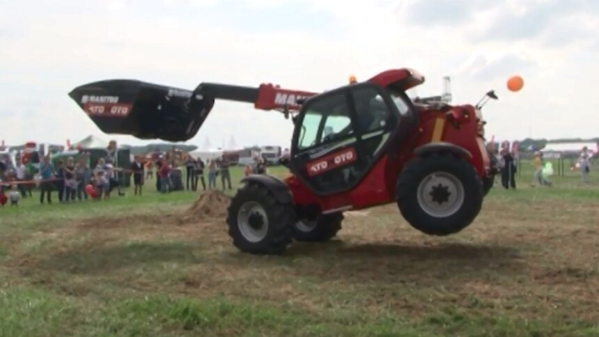
[[[93,82],[69,93],[102,132],[164,141],[191,139],[212,110],[214,97],[193,95],[127,79]]]

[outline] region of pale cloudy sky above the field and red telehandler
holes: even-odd
[[[0,139],[65,143],[103,134],[70,100],[81,84],[139,79],[325,91],[394,68],[454,104],[483,109],[498,140],[599,136],[596,0],[0,0]],[[512,93],[506,81],[524,78]],[[186,143],[289,146],[276,111],[218,101]]]

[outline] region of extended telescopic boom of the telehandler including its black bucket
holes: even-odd
[[[253,103],[256,109],[297,111],[317,95],[272,84],[258,88],[202,83],[194,91],[143,81],[115,79],[75,88],[69,96],[102,132],[139,139],[187,141],[196,135],[215,100]]]

